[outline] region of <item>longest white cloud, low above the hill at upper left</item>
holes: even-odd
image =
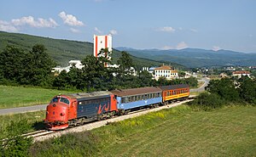
[[[58,26],[58,24],[55,22],[55,20],[49,18],[49,20],[45,20],[42,18],[38,18],[38,20],[34,20],[32,16],[22,17],[20,19],[12,20],[11,23],[16,26],[20,25],[30,25],[32,27],[37,28],[55,28]]]

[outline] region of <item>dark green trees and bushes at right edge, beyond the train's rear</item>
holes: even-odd
[[[206,91],[207,93],[201,93],[194,101],[189,102],[189,105],[202,110],[219,109],[233,104],[256,106],[256,80],[247,76],[212,80]]]

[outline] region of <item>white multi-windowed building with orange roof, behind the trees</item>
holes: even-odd
[[[154,69],[154,79],[158,80],[160,77],[166,77],[166,80],[177,78],[177,70],[173,70],[171,66],[162,65]]]

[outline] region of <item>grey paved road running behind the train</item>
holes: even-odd
[[[202,78],[200,81],[204,81],[204,84],[196,89],[190,89],[190,92],[202,92],[207,87],[210,79]],[[35,106],[27,106],[27,107],[20,107],[20,108],[11,108],[11,109],[0,109],[0,115],[9,115],[9,114],[18,114],[18,113],[25,113],[25,112],[33,112],[38,110],[45,110],[47,104],[35,105]]]

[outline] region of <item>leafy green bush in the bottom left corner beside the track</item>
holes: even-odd
[[[28,149],[32,145],[32,137],[21,136],[28,127],[30,126],[26,120],[11,121],[11,124],[7,127],[9,136],[6,140],[0,142],[1,156],[15,157],[28,155]]]

